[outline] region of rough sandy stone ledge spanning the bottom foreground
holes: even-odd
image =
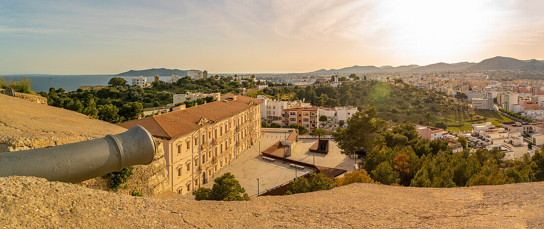
[[[544,182],[468,188],[353,184],[194,201],[139,198],[35,177],[0,177],[7,228],[544,228]]]

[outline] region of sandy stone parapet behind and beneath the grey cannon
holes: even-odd
[[[81,113],[0,94],[0,152],[51,147],[124,131],[118,125]],[[169,189],[162,141],[156,139],[155,143],[158,150],[153,162],[135,166],[134,175],[119,193],[129,194],[137,189],[144,196],[152,196]],[[102,177],[79,185],[109,190]]]

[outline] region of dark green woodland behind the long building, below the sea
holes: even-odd
[[[200,92],[238,92],[244,84],[254,86],[256,83],[230,81],[230,78],[208,78],[191,80],[184,77],[174,84],[165,84],[163,81],[153,82],[151,88],[128,86],[125,79],[114,77],[108,82],[108,87],[101,90],[87,90],[65,92],[63,88],[50,88],[49,92],[40,92],[47,98],[47,104],[62,107],[67,110],[84,113],[91,118],[104,120],[110,123],[120,123],[137,119],[145,107],[156,107],[172,103],[172,93],[186,93],[187,91]],[[187,107],[195,103],[213,99],[204,98],[195,101],[186,101]]]

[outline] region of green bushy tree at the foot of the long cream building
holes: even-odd
[[[225,173],[213,181],[212,189],[201,187],[193,192],[195,200],[249,200],[249,195],[231,173]]]

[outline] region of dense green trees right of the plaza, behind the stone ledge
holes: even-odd
[[[544,181],[544,152],[503,161],[504,152],[465,149],[419,137],[412,125],[390,126],[375,108],[357,112],[333,138],[344,154],[363,155],[362,168],[386,185],[461,187]]]

